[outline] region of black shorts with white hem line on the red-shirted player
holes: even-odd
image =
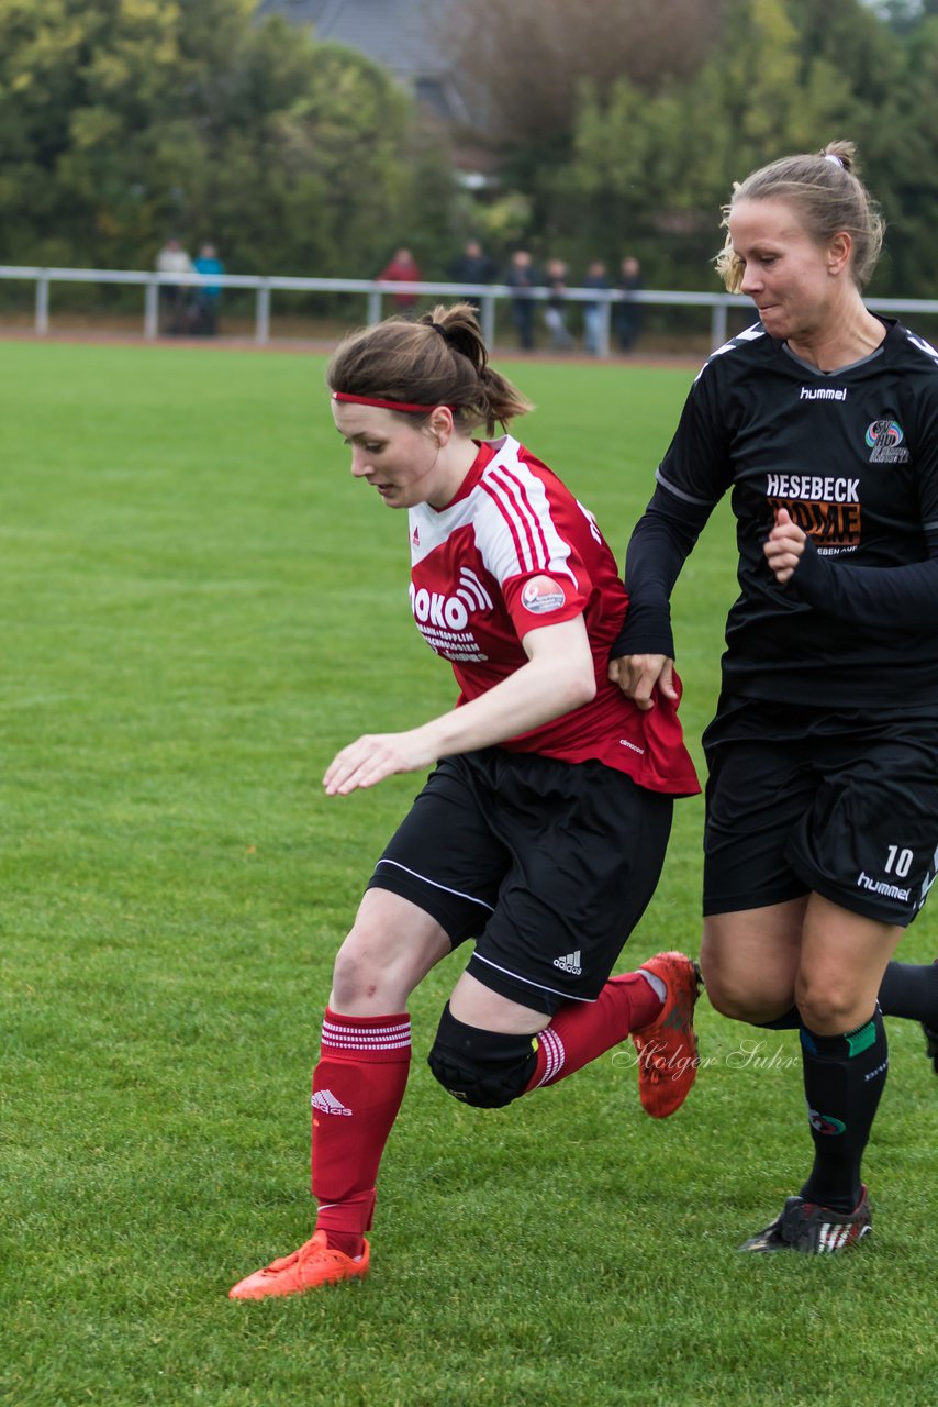
[[[592,1002],[661,874],[671,796],[602,763],[489,747],[444,757],[368,888],[477,938],[480,982],[548,1016]]]

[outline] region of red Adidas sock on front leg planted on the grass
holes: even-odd
[[[378,1164],[411,1068],[411,1017],[338,1016],[326,1007],[312,1074],[316,1230],[360,1255],[374,1214]]]

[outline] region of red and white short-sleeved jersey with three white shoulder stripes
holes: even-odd
[[[596,696],[502,747],[595,758],[675,796],[700,789],[675,706],[658,699],[643,713],[608,680],[626,588],[593,515],[546,464],[509,435],[484,442],[457,497],[411,508],[408,522],[413,618],[451,663],[460,704],[527,663],[529,630],[584,616]]]

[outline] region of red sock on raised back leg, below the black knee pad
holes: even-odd
[[[537,1065],[525,1093],[582,1069],[660,1010],[661,998],[638,972],[610,978],[595,1002],[571,1002],[537,1033]]]

